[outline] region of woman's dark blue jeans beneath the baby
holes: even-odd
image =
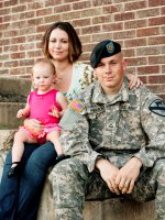
[[[11,153],[8,153],[0,185],[0,220],[36,220],[41,194],[56,152],[51,142],[42,146],[25,144],[20,177],[8,177]]]

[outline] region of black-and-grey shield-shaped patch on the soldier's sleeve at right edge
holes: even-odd
[[[165,103],[162,99],[155,99],[148,107],[148,109],[162,117],[165,117]]]

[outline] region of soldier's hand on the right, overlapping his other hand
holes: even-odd
[[[134,183],[140,175],[142,162],[138,157],[132,157],[118,173],[116,185],[122,194],[131,194]]]

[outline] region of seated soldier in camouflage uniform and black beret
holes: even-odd
[[[56,220],[81,220],[85,199],[155,199],[165,220],[165,105],[145,86],[129,90],[127,61],[113,41],[90,56],[96,81],[69,105],[61,141],[72,158],[51,179]]]

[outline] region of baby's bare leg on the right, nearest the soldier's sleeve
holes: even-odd
[[[47,134],[46,140],[51,141],[54,144],[54,147],[57,152],[57,155],[64,154],[63,146],[59,142],[61,131],[55,130]]]

